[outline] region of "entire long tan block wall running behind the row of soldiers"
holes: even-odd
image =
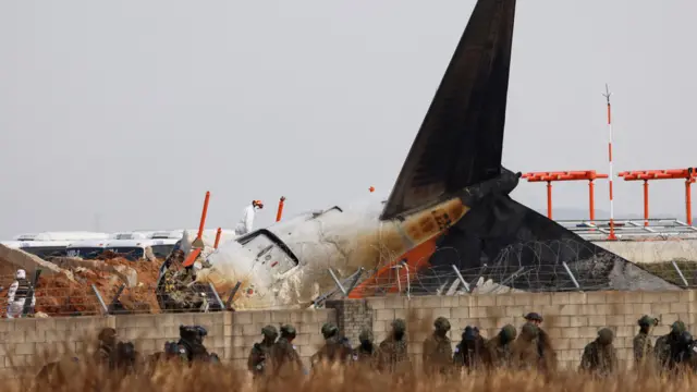
[[[45,350],[80,351],[93,342],[100,327],[113,327],[122,340],[132,340],[145,354],[162,350],[174,340],[180,324],[198,323],[209,331],[207,346],[221,358],[244,367],[252,345],[260,340],[261,327],[291,323],[298,330],[295,345],[305,360],[322,344],[323,322],[337,322],[357,344],[360,330],[369,328],[377,341],[386,338],[394,318],[408,321],[409,352],[420,363],[421,343],[430,333],[436,317],[448,317],[451,339],[460,340],[462,329],[477,326],[487,338],[512,323],[523,324],[523,315],[537,311],[545,317],[542,327],[553,340],[559,359],[565,367],[576,367],[583,347],[597,331],[610,327],[615,331],[615,346],[624,364],[629,356],[636,321],[645,314],[661,319],[655,335],[668,332],[675,320],[683,320],[696,333],[697,302],[695,291],[680,292],[592,292],[502,294],[478,296],[380,297],[337,301],[328,309],[293,311],[239,311],[219,314],[142,315],[118,317],[81,317],[20,319],[0,321],[0,368],[38,360]]]

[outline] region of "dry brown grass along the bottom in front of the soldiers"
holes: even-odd
[[[551,377],[534,372],[505,372],[457,375],[450,378],[426,378],[419,372],[403,376],[379,375],[371,369],[359,367],[321,366],[309,376],[297,376],[282,380],[270,379],[255,382],[250,375],[228,365],[197,365],[183,367],[174,364],[159,365],[157,368],[139,367],[137,375],[118,375],[100,371],[90,360],[90,353],[77,355],[82,360],[73,362],[63,357],[48,381],[39,383],[35,376],[56,354],[48,353],[37,360],[37,366],[17,368],[14,380],[3,380],[2,391],[567,391],[567,392],[611,392],[611,391],[688,391],[697,385],[694,376],[685,377],[639,377],[625,372],[608,379],[594,379],[573,371],[559,372]]]

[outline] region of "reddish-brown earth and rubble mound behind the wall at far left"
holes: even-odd
[[[40,269],[36,284],[37,316],[99,315],[102,306],[95,289],[107,306],[114,305],[129,313],[158,313],[155,285],[160,265],[161,260],[131,261],[109,256],[102,260],[60,257],[47,261],[0,244],[0,286],[7,292],[20,268],[26,270],[27,279]],[[122,285],[124,289],[114,302]],[[0,297],[1,317],[5,316],[7,299],[7,294]]]

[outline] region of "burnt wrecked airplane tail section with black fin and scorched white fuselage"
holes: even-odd
[[[433,292],[453,269],[529,291],[678,290],[509,196],[521,176],[501,167],[514,16],[515,0],[477,1],[386,201],[243,235],[197,281],[239,289],[237,308],[307,306],[338,281],[350,297]]]

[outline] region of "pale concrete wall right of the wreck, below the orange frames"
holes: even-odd
[[[633,262],[697,261],[697,240],[594,241],[594,244]]]

